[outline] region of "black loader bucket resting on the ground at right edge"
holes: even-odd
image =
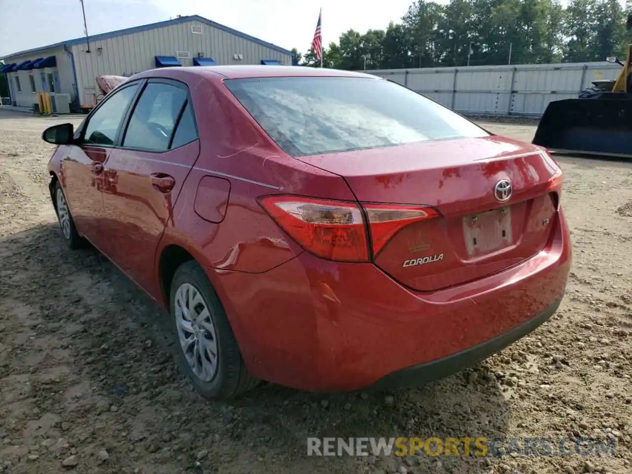
[[[632,100],[625,93],[602,97],[550,102],[533,143],[558,152],[632,157]]]

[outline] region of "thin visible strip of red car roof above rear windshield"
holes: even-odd
[[[165,71],[180,71],[186,75],[222,76],[225,79],[257,78],[257,77],[363,77],[378,79],[377,76],[359,71],[341,71],[327,68],[310,68],[306,66],[186,66],[161,68],[140,73],[138,76],[161,76]]]

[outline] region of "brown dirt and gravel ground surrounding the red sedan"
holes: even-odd
[[[632,161],[559,157],[568,293],[550,322],[475,369],[386,396],[268,384],[209,403],[178,374],[165,315],[97,252],[63,245],[40,140],[62,121],[0,111],[0,471],[632,473]],[[585,437],[616,452],[308,457],[308,436],[550,437],[552,454]]]

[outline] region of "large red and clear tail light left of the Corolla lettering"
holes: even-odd
[[[423,206],[360,205],[288,195],[267,196],[259,202],[305,250],[338,262],[369,262],[399,229],[439,216]]]

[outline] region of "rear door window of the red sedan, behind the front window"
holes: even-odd
[[[168,150],[185,102],[186,90],[181,87],[147,84],[131,114],[123,146],[155,152]]]

